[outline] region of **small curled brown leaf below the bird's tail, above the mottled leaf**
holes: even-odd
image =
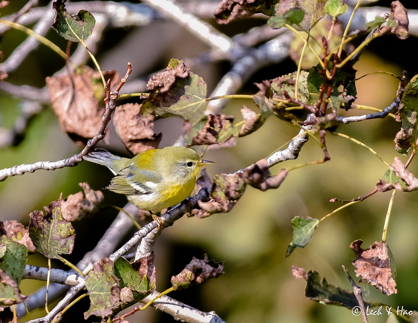
[[[62,216],[67,221],[76,221],[92,216],[99,211],[104,196],[101,191],[94,191],[88,183],[79,183],[84,191],[69,195],[61,201]]]

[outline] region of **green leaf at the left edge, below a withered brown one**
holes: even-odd
[[[18,242],[6,236],[0,238],[0,250],[4,250],[0,257],[0,269],[2,269],[14,281],[20,283],[25,272],[28,249]]]

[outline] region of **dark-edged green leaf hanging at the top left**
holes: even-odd
[[[69,41],[85,41],[93,32],[96,19],[86,10],[80,10],[76,15],[69,15],[65,8],[66,0],[57,0],[52,4],[55,10],[54,28],[62,37]]]

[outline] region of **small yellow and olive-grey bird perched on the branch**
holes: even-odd
[[[109,168],[115,177],[104,188],[125,194],[139,209],[150,211],[158,227],[162,220],[156,214],[187,198],[199,168],[213,164],[186,147],[145,150],[132,159],[96,149],[83,158]]]

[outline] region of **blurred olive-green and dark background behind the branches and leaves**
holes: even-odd
[[[24,3],[14,0],[1,13],[12,13]],[[382,5],[387,3],[382,2]],[[213,20],[208,21],[215,25]],[[219,28],[230,35],[262,23],[264,20],[261,19],[244,20]],[[136,76],[146,76],[164,68],[172,57],[183,59],[196,56],[206,48],[183,28],[167,21],[151,23],[143,28],[114,29],[107,33],[107,36],[118,40],[102,41],[96,57],[102,69],[118,69],[120,74],[124,73],[127,61],[133,63],[134,76],[135,73]],[[9,30],[4,33],[0,44],[4,59],[24,38],[25,35],[20,31]],[[47,38],[65,50],[66,41],[55,31],[49,31]],[[134,39],[142,40],[140,48]],[[167,41],[163,52],[150,58],[149,62],[143,61],[143,57],[148,58],[152,54],[154,46],[161,48],[158,45],[161,41]],[[382,70],[400,75],[405,69],[409,77],[412,77],[416,74],[417,64],[412,49],[414,46],[416,39],[412,37],[407,41],[399,41],[394,36],[377,39],[354,66],[358,70],[357,76]],[[49,48],[40,46],[16,71],[10,73],[6,81],[41,88],[45,86],[45,77],[62,66],[64,61],[59,56]],[[210,93],[228,69],[228,63],[208,63],[194,66],[191,70],[206,80]],[[257,89],[253,82],[281,76],[295,69],[290,59],[262,69],[252,76],[240,93],[254,94]],[[355,103],[385,108],[393,101],[397,88],[397,80],[393,77],[381,74],[367,76],[357,81],[358,99]],[[19,98],[0,91],[1,127],[13,127],[16,118],[20,116],[19,103]],[[232,114],[236,121],[240,121],[242,104],[252,107],[250,100],[234,99],[229,101],[222,112]],[[181,120],[176,118],[157,122],[156,132],[163,132],[161,147],[173,144],[173,138],[180,134],[180,126]],[[387,117],[384,120],[340,125],[337,131],[364,142],[387,163],[392,163],[395,156],[403,162],[407,160],[394,149],[393,138],[399,128],[398,122]],[[218,173],[232,173],[268,156],[297,133],[297,128],[272,116],[260,130],[239,138],[234,148],[209,151],[205,158],[214,160],[216,164],[209,166],[207,171],[211,177]],[[326,140],[331,155],[329,162],[292,171],[280,188],[275,190],[261,192],[247,188],[240,202],[228,214],[214,214],[205,219],[183,218],[164,230],[155,245],[157,289],[163,291],[168,288],[171,275],[180,272],[192,256],[202,257],[206,253],[209,259],[225,261],[225,274],[201,286],[172,292],[171,297],[200,310],[214,310],[229,323],[361,322],[361,316],[353,316],[351,310],[307,300],[304,296],[305,282],[295,280],[291,266],[299,265],[306,271],[316,270],[329,283],[351,290],[341,267],[345,265],[354,277],[354,268],[350,263],[354,253],[349,244],[355,239],[363,239],[363,247],[366,248],[381,239],[390,192],[375,194],[329,217],[321,222],[306,248],[296,249],[290,257],[284,257],[292,239],[291,219],[294,216],[321,218],[340,206],[338,203],[330,203],[330,198],[349,199],[364,195],[372,191],[386,170],[378,158],[359,145],[331,134],[327,135]],[[128,155],[120,144],[108,149],[120,155]],[[38,160],[59,160],[79,150],[60,130],[52,108],[45,105],[30,123],[20,145],[0,148],[0,169]],[[297,160],[276,165],[271,171],[275,174],[280,168],[319,160],[321,157],[321,149],[310,140]],[[418,174],[417,165],[418,161],[413,160],[408,169]],[[79,182],[88,182],[97,190],[107,184],[110,178],[111,174],[106,169],[86,162],[72,168],[38,170],[8,178],[0,182],[0,220],[17,219],[27,225],[31,211],[42,209],[61,192],[65,197],[80,191]],[[126,203],[124,196],[107,191],[103,193],[106,204],[123,206]],[[394,308],[403,306],[418,310],[417,194],[416,191],[396,194],[387,234],[387,243],[396,262],[398,294],[384,296],[374,287],[364,286],[363,295],[367,300],[380,301]],[[112,210],[100,211],[92,219],[74,223],[77,238],[74,253],[68,259],[76,263],[85,252],[92,250],[116,214]],[[28,263],[47,265],[46,259],[40,255],[29,256]],[[64,268],[58,262],[53,262],[53,266]],[[23,280],[20,287],[24,295],[29,295],[42,285],[44,282]],[[72,321],[72,318],[81,320],[87,308],[88,302],[84,299],[69,311],[64,321]],[[37,310],[31,318],[41,315],[44,315],[43,310]],[[21,319],[24,320],[26,318]],[[137,313],[128,320],[173,321],[171,316],[153,308]],[[372,323],[386,320],[385,313],[369,317]]]

